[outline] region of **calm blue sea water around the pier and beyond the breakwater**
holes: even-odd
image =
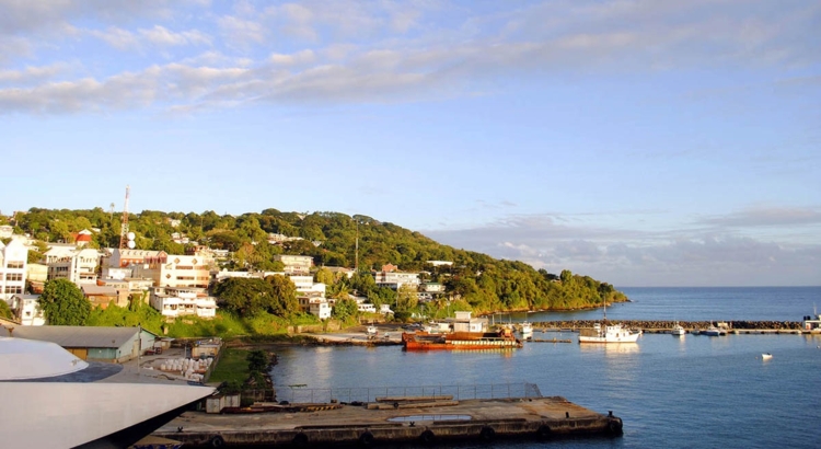
[[[798,321],[812,313],[813,301],[821,306],[821,288],[624,290],[635,302],[614,307],[609,316]],[[577,341],[570,333],[543,335]],[[764,361],[762,353],[773,358]],[[529,343],[508,353],[289,347],[278,356],[273,376],[280,396],[293,384],[532,382],[544,395],[562,395],[601,413],[612,410],[624,419],[621,438],[501,440],[461,448],[814,448],[821,441],[821,336],[646,334],[634,345]]]

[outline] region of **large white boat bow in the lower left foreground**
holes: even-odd
[[[0,360],[8,448],[129,447],[213,392],[83,361],[49,342],[0,337]]]

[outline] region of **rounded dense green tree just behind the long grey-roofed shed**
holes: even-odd
[[[80,287],[68,279],[47,280],[39,303],[50,325],[81,326],[91,313],[91,302]]]

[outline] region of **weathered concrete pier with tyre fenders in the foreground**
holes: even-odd
[[[560,396],[442,401],[432,406],[424,403],[424,407],[415,404],[419,402],[407,399],[395,400],[390,407],[357,404],[303,413],[186,412],[152,435],[184,442],[185,447],[433,445],[506,437],[622,435],[621,418],[612,413],[595,413]]]

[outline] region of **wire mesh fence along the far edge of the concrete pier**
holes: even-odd
[[[472,399],[527,399],[542,398],[535,383],[486,383],[423,387],[363,387],[363,388],[304,388],[302,385],[277,387],[277,401],[302,403],[368,403],[383,396],[446,396],[464,401]]]

